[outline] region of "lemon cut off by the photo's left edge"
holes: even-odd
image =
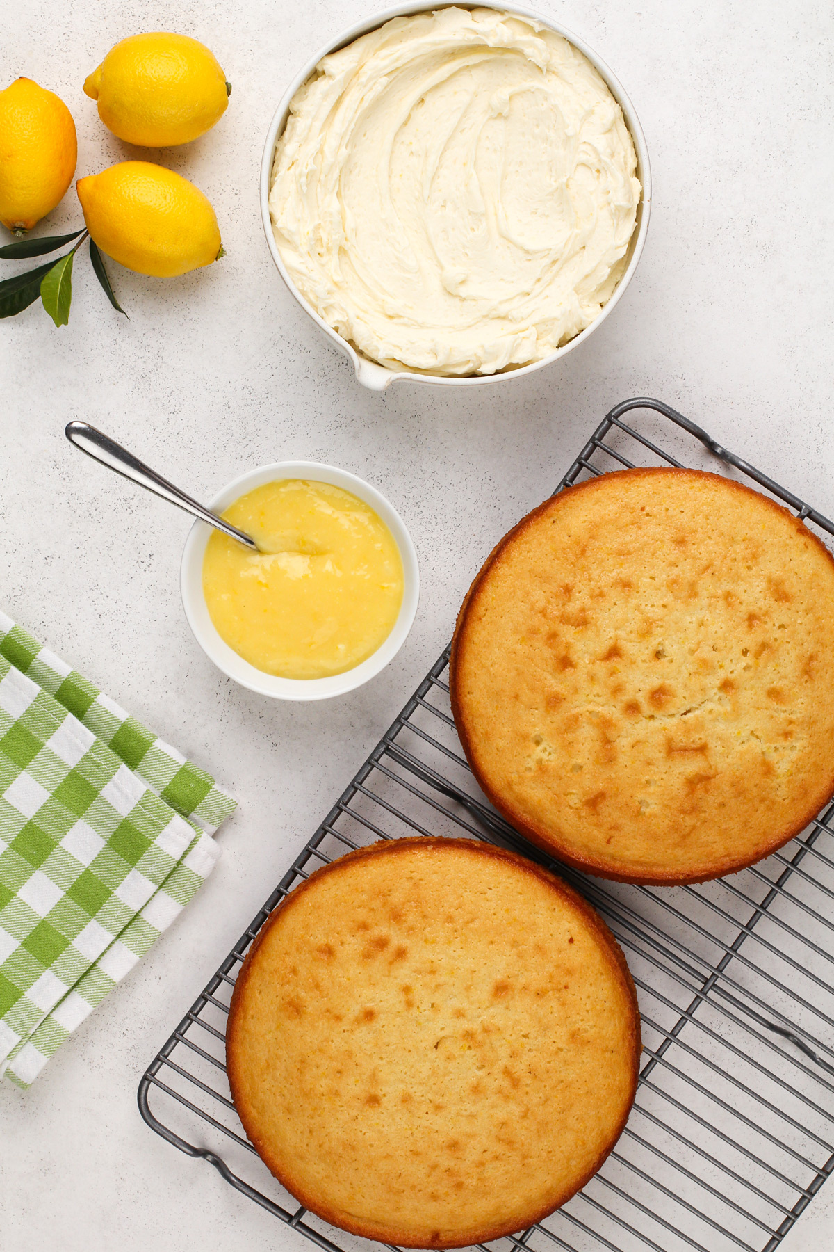
[[[64,101],[31,79],[0,91],[0,222],[29,230],[73,182],[78,141]]]

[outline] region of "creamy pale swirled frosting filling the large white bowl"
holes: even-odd
[[[640,184],[623,113],[573,44],[493,9],[395,18],[325,56],[275,151],[301,294],[391,368],[550,356],[610,299]]]

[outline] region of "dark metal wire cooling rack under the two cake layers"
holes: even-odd
[[[625,466],[684,463],[753,480],[834,535],[834,523],[654,399],[611,409],[558,490]],[[636,1102],[614,1152],[580,1194],[490,1252],[773,1252],[834,1171],[834,805],[781,851],[719,881],[584,878],[521,840],[483,798],[450,716],[448,660],[154,1058],[139,1087],[143,1117],[328,1252],[370,1249],[299,1208],[248,1143],[224,1068],[231,989],[271,909],[320,865],[379,839],[469,835],[578,886],[619,939],[643,1017]]]

